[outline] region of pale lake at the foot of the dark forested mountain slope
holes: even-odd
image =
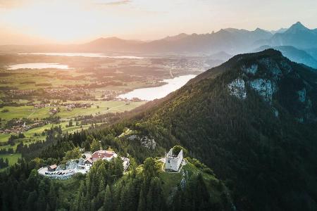
[[[170,94],[170,92],[180,89],[180,87],[184,86],[189,79],[194,77],[196,77],[196,75],[182,75],[172,79],[163,79],[162,82],[166,82],[167,84],[159,87],[135,89],[126,94],[120,94],[118,97],[127,98],[129,100],[132,98],[139,98],[142,101],[153,101],[154,99],[163,98]]]

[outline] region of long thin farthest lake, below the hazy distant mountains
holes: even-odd
[[[132,58],[142,59],[139,56],[107,56],[104,53],[18,53],[20,55],[46,55],[46,56],[85,56],[85,57],[99,57],[99,58]]]

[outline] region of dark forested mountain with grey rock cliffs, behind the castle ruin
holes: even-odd
[[[316,82],[311,68],[279,51],[242,54],[137,124],[161,146],[179,142],[213,168],[238,210],[316,210]]]

